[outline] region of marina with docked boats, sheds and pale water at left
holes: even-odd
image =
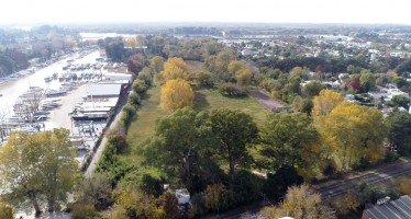
[[[100,53],[92,50],[25,71],[24,76],[2,79],[0,142],[5,142],[12,131],[66,128],[70,130],[70,142],[77,148],[81,166],[131,81],[130,74],[120,73],[119,77],[108,73],[105,79],[108,64],[102,60]]]

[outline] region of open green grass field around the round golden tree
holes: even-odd
[[[136,119],[131,124],[127,134],[130,150],[123,154],[127,162],[140,163],[138,146],[154,134],[156,120],[170,112],[159,108],[159,85],[148,90],[148,97],[142,102]],[[200,89],[196,91],[195,110],[212,111],[215,108],[240,110],[249,114],[258,125],[263,125],[265,117],[270,114],[252,97],[230,99],[222,96],[215,89]]]

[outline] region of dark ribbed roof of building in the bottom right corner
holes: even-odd
[[[397,200],[376,205],[363,211],[362,219],[410,219],[411,195],[401,196]]]

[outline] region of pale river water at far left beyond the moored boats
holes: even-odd
[[[55,72],[64,72],[63,67],[67,65],[67,60],[74,59],[75,61],[73,64],[95,64],[96,58],[99,57],[99,51],[93,51],[82,58],[79,58],[79,54],[74,54],[68,58],[49,65],[48,67],[36,70],[33,74],[0,84],[0,94],[2,95],[0,96],[0,116],[10,117],[13,115],[13,104],[19,101],[20,95],[26,92],[30,87],[40,87],[45,90],[58,90],[60,87],[58,80],[45,82],[44,78],[51,77]]]

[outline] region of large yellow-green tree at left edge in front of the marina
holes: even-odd
[[[16,208],[30,204],[40,215],[42,204],[54,211],[67,200],[77,173],[68,134],[66,129],[54,129],[10,136],[0,151],[0,175],[2,187],[8,188],[8,203]]]

